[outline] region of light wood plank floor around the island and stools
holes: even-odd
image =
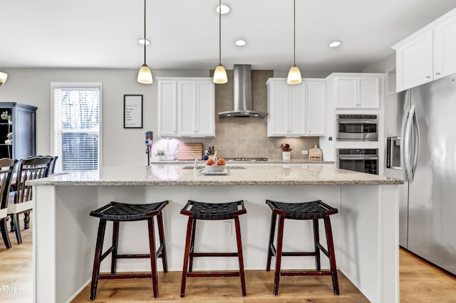
[[[31,229],[22,233],[24,243],[6,250],[0,240],[0,302],[31,302]],[[273,273],[247,271],[247,297],[242,297],[239,278],[189,278],[185,298],[180,298],[180,272],[159,274],[160,298],[152,298],[150,280],[100,280],[93,302],[368,302],[346,277],[339,273],[340,296],[334,296],[331,277],[281,277],[280,294],[272,294]],[[5,287],[13,287],[10,293]],[[19,287],[21,292],[18,292]],[[89,287],[73,302],[90,302]],[[401,302],[456,302],[456,279],[400,250]]]

